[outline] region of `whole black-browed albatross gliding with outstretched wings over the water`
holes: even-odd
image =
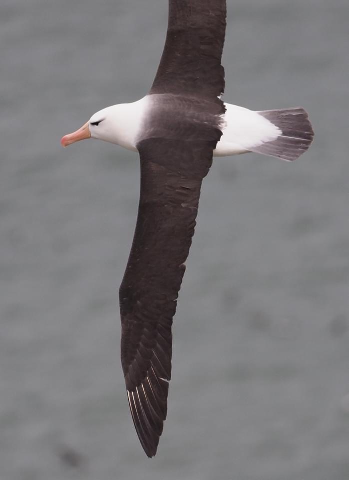
[[[165,47],[147,95],[94,113],[62,137],[116,143],[140,155],[136,229],[120,286],[121,363],[145,453],[167,413],[172,318],[212,157],[253,151],[284,160],[314,136],[301,108],[253,111],[223,102],[226,0],[169,0]]]

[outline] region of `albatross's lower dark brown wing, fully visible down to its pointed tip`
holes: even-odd
[[[120,287],[121,362],[133,422],[149,457],[166,418],[172,317],[215,145],[162,138],[138,144],[138,218]]]

